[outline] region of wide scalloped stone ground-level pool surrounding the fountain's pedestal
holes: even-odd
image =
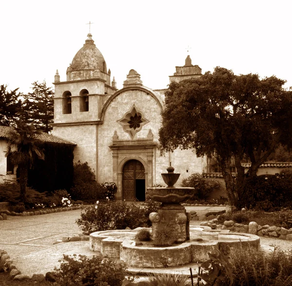
[[[135,268],[167,268],[203,262],[214,248],[259,249],[257,235],[211,230],[209,227],[190,227],[190,239],[181,244],[155,247],[149,242],[142,242],[140,245],[135,240],[140,229],[93,232],[90,235],[90,249],[101,252],[103,256],[120,259]]]

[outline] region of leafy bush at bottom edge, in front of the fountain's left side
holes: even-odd
[[[127,274],[124,263],[116,263],[101,256],[87,258],[79,255],[77,259],[74,254],[67,261],[55,269],[60,286],[122,286]]]

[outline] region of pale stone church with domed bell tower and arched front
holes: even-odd
[[[188,56],[169,78],[179,82],[200,75]],[[160,174],[170,163],[180,180],[203,172],[205,159],[191,150],[160,154],[166,89],[146,88],[135,70],[117,89],[91,34],[68,67],[66,81],[56,72],[54,84],[54,135],[76,143],[74,162],[88,162],[98,182],[117,184],[117,199],[145,200],[147,187],[165,185]]]

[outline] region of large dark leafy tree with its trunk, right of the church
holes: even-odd
[[[199,78],[171,83],[165,93],[162,151],[175,148],[215,156],[226,183],[229,203],[237,205],[248,177],[256,176],[278,144],[292,137],[292,92],[275,76],[235,75],[217,67]],[[249,158],[247,174],[241,161]],[[237,179],[231,173],[235,161]]]

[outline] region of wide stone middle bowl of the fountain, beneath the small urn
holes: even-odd
[[[166,204],[178,204],[193,197],[194,188],[186,187],[153,187],[147,188],[147,196],[154,201]]]

